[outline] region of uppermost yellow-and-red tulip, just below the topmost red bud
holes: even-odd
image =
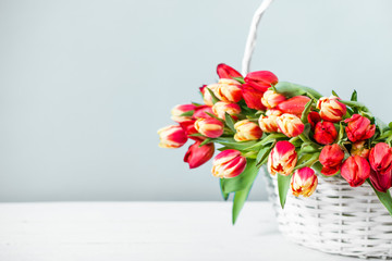
[[[218,82],[217,88],[213,94],[221,101],[238,102],[243,96],[241,90],[241,84],[235,79],[221,78]]]

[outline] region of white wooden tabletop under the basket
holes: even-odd
[[[267,202],[0,203],[1,261],[355,260],[286,241]]]

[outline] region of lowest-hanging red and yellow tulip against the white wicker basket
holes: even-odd
[[[299,195],[309,197],[316,190],[317,183],[316,173],[310,167],[305,166],[296,170],[291,179],[293,195],[295,197]]]

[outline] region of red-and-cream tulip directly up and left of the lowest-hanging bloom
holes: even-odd
[[[290,175],[297,162],[295,147],[286,140],[278,141],[268,157],[268,172],[271,175],[277,173]]]

